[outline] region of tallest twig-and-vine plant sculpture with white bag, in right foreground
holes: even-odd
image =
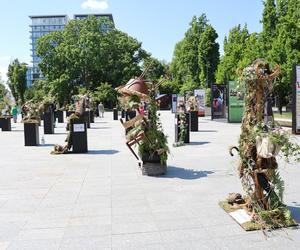
[[[241,75],[246,86],[245,112],[239,146],[234,148],[239,151],[239,175],[246,192],[243,207],[252,215],[251,229],[295,224],[282,201],[284,182],[276,160],[280,153],[288,159],[299,152],[288,133],[274,122],[271,92],[279,73],[279,66],[271,71],[263,60],[256,60]]]

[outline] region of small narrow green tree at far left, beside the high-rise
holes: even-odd
[[[15,59],[8,66],[8,86],[15,101],[20,102],[20,104],[25,102],[24,95],[27,88],[26,71],[26,63],[20,63],[18,59]]]

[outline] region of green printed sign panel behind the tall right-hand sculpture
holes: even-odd
[[[228,92],[228,122],[241,122],[244,113],[245,91],[238,86],[236,81],[230,81]]]

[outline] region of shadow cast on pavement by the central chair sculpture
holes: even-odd
[[[194,169],[168,166],[167,174],[165,176],[162,176],[162,178],[179,178],[185,180],[194,180],[194,179],[207,177],[208,175],[213,173],[214,173],[213,171],[206,171],[206,170],[198,171]]]

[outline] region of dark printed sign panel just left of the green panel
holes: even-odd
[[[212,84],[212,119],[225,118],[225,86]]]

